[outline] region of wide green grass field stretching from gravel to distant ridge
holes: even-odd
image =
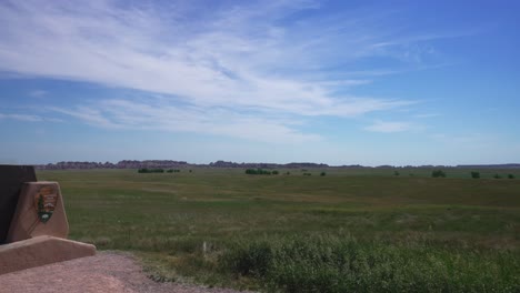
[[[444,170],[446,179],[398,171],[67,170],[38,179],[60,183],[71,239],[134,252],[158,281],[520,292],[520,170],[480,170],[481,179],[471,170]]]

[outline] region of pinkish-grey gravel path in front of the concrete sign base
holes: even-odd
[[[157,283],[144,275],[131,256],[113,252],[98,252],[94,256],[0,275],[0,292],[237,293],[238,291]]]

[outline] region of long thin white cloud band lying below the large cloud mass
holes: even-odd
[[[300,143],[321,139],[317,134],[306,134],[291,128],[299,124],[298,121],[277,117],[251,117],[224,108],[207,111],[197,107],[173,107],[157,100],[147,103],[103,100],[100,104],[90,107],[48,109],[107,129],[198,132],[273,143]]]

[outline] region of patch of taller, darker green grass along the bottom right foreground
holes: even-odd
[[[221,269],[286,292],[520,292],[511,251],[359,242],[318,234],[242,240],[220,256]]]

